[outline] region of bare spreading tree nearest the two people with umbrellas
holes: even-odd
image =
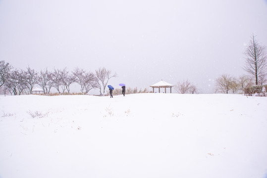
[[[100,89],[100,95],[105,95],[105,89],[107,87],[107,83],[109,79],[112,77],[117,77],[117,74],[111,74],[110,70],[107,70],[105,67],[99,68],[96,70],[96,78],[98,80],[98,88]],[[103,87],[103,94],[102,94]]]

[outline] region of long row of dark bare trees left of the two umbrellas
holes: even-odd
[[[91,89],[100,89],[100,95],[105,95],[105,89],[109,79],[117,77],[105,67],[93,72],[81,68],[67,71],[66,68],[59,70],[41,70],[40,73],[28,67],[26,70],[13,69],[5,61],[0,61],[0,88],[17,95],[25,92],[31,94],[34,86],[39,85],[45,94],[49,94],[55,88],[59,94],[70,93],[71,84],[77,83],[81,93],[88,93]]]

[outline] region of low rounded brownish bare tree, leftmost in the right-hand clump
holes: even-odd
[[[232,77],[228,75],[221,75],[215,81],[215,91],[228,94],[228,91],[231,89]]]

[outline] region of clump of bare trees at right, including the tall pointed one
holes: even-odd
[[[235,78],[231,75],[223,74],[215,80],[215,92],[228,94],[245,93],[254,94],[265,92],[267,88],[267,55],[266,46],[262,45],[253,34],[250,43],[244,52],[245,65],[243,67],[246,75]]]

